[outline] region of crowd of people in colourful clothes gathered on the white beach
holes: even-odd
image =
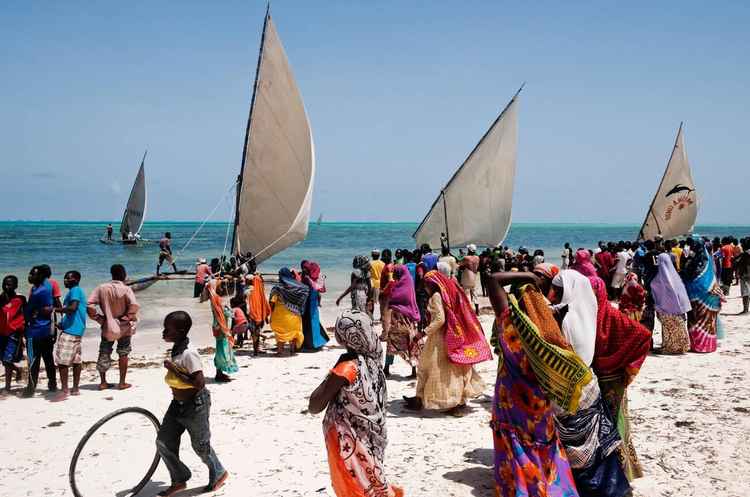
[[[543,251],[524,247],[478,254],[469,245],[453,255],[447,246],[436,254],[424,245],[370,255],[353,259],[350,285],[336,300],[350,301],[334,328],[346,351],[309,399],[310,413],[326,410],[325,443],[339,497],[404,495],[388,482],[384,461],[387,381],[396,357],[416,379],[405,409],[462,416],[467,402],[484,391],[476,365],[492,360],[493,350],[496,494],[629,495],[630,482],[643,472],[628,418],[628,386],[654,351],[656,320],[662,329],[656,352],[713,352],[731,286],[740,285],[744,313],[750,301],[750,238],[600,242],[594,250],[576,251],[566,244],[560,266],[546,262]],[[33,395],[42,361],[49,390],[57,390],[59,374],[60,399],[77,395],[87,319],[101,329],[99,388],[113,387],[106,378],[113,351],[117,388],[130,386],[128,356],[139,306],[125,284],[125,268],[116,264],[111,275],[86,298],[80,273],[68,271],[64,299],[49,266],[32,268],[28,297],[18,294],[17,277],[3,279],[6,390],[14,377],[18,381],[25,350],[24,395]],[[217,382],[238,371],[234,351],[245,340],[254,354],[263,353],[266,325],[280,355],[320,350],[329,342],[319,313],[325,277],[315,262],[282,268],[268,294],[252,254],[211,264],[201,258],[195,278],[194,296],[209,302],[213,316]],[[495,317],[489,340],[479,321],[478,286]],[[173,402],[157,440],[172,479],[163,495],[181,491],[190,478],[177,450],[185,430],[209,468],[207,490],[228,476],[210,445],[210,395],[200,356],[189,346],[191,325],[182,311],[164,323],[164,339],[172,343],[164,366]]]

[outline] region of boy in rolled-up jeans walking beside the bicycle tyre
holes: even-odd
[[[229,476],[211,447],[208,422],[211,396],[206,389],[201,358],[189,345],[188,332],[192,325],[193,321],[185,311],[170,312],[164,318],[162,338],[173,344],[170,359],[164,361],[167,369],[164,380],[172,389],[172,403],[164,414],[156,447],[172,482],[169,488],[159,493],[162,496],[176,495],[185,490],[192,476],[190,469],[180,461],[180,438],[185,430],[190,435],[193,450],[208,466],[208,486],[204,491],[221,488]]]

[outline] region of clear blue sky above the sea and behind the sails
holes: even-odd
[[[0,219],[227,219],[264,2],[0,7]],[[513,219],[639,223],[677,128],[699,223],[749,224],[750,3],[275,1],[313,216],[415,221],[521,85]]]

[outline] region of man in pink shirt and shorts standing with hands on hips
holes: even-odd
[[[133,289],[124,281],[127,278],[125,268],[115,264],[110,268],[112,281],[96,287],[88,301],[88,315],[101,325],[102,339],[99,343],[99,358],[96,360],[96,370],[99,371],[101,382],[99,390],[112,387],[107,383],[107,371],[112,366],[112,349],[117,342],[118,366],[120,368],[119,390],[130,388],[125,382],[128,374],[128,356],[132,350],[130,339],[135,334],[140,306],[135,300]]]

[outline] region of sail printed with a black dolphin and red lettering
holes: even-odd
[[[682,123],[677,131],[672,156],[659,184],[646,220],[639,234],[641,240],[664,239],[692,233],[698,216],[698,193],[695,190],[685,150]]]

